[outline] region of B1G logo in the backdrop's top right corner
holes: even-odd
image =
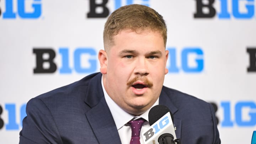
[[[195,0],[196,12],[194,18],[213,18],[216,15],[215,0]],[[254,0],[219,0],[218,18],[230,19],[231,16],[239,19],[250,19],[255,13]],[[231,11],[229,11],[231,7]]]

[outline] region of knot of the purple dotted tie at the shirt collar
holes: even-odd
[[[139,118],[136,120],[129,121],[129,124],[132,129],[132,137],[140,136],[140,129],[142,128],[145,119]]]

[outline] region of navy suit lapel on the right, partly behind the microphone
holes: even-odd
[[[178,111],[177,107],[172,103],[171,98],[172,96],[167,96],[166,92],[162,89],[160,97],[159,97],[159,105],[167,106],[173,116],[174,116],[174,126],[176,127],[175,134],[177,138],[181,137],[181,119],[176,116],[176,112]]]

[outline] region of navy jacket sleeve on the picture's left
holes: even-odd
[[[23,119],[20,144],[63,143],[53,116],[46,104],[39,98],[32,98],[26,106],[27,116]]]

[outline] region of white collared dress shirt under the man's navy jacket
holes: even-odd
[[[108,107],[110,108],[110,112],[113,116],[114,122],[116,123],[116,127],[119,133],[119,137],[121,139],[122,144],[129,144],[130,139],[132,137],[132,129],[130,126],[127,124],[130,120],[132,119],[138,119],[138,118],[144,118],[146,121],[142,125],[142,129],[140,131],[140,143],[143,143],[143,135],[142,133],[145,132],[149,127],[149,122],[148,122],[148,113],[149,110],[159,104],[159,98],[156,100],[154,105],[149,108],[145,113],[141,114],[140,116],[134,116],[126,111],[124,111],[121,107],[119,107],[112,99],[111,97],[107,94],[105,87],[103,85],[103,80],[101,78],[101,85],[102,89],[104,92],[104,96],[107,102]]]

